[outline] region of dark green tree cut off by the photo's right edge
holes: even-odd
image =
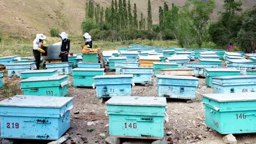
[[[256,6],[243,14],[241,29],[237,34],[237,43],[247,53],[256,50]]]

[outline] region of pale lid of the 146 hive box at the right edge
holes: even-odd
[[[202,97],[218,102],[255,101],[255,93],[202,94]]]

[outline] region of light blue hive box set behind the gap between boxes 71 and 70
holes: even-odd
[[[153,68],[130,68],[123,67],[123,74],[133,75],[132,81],[134,83],[151,83]]]

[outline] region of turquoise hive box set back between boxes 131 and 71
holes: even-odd
[[[73,84],[75,87],[92,87],[96,75],[104,75],[104,69],[75,68],[72,70]]]

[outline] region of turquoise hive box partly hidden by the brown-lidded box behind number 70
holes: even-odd
[[[153,62],[154,74],[161,74],[160,69],[176,69],[179,67],[177,63],[157,63]]]

